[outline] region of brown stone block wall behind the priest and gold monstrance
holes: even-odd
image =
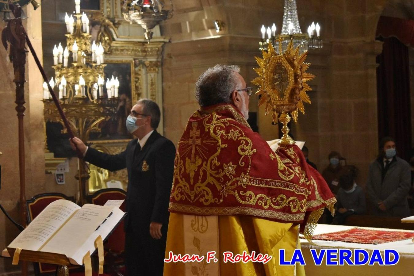
[[[375,57],[382,45],[375,41],[375,30],[385,2],[297,0],[302,31],[312,21],[320,22],[325,46],[309,51],[309,72],[316,75],[310,82],[312,104],[291,125],[291,133],[307,142],[310,160],[320,171],[328,164],[329,152],[339,151],[348,164],[359,168],[362,185],[378,147]],[[252,80],[254,56],[260,55],[260,27],[275,22],[281,28],[283,2],[181,0],[174,5],[175,14],[161,31],[171,37],[163,64],[164,129],[177,143],[198,108],[193,96],[197,77],[217,63],[232,63],[241,65],[246,82]],[[214,29],[216,19],[224,22],[219,33]],[[260,134],[276,138],[276,127],[256,104],[255,96],[250,97],[251,111],[258,111]]]

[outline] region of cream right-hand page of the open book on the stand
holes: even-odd
[[[40,251],[65,254],[66,257],[73,258],[113,209],[113,206],[85,204],[41,247]],[[82,265],[82,259],[77,264]]]

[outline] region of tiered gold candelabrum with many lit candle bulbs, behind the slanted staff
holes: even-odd
[[[75,12],[66,13],[66,46],[61,43],[53,48],[55,78],[49,84],[58,91],[58,98],[73,133],[88,141],[90,132],[100,132],[100,124],[116,119],[118,105],[118,78],[104,81],[103,46],[91,43],[89,19],[80,13],[80,0],[75,0]],[[70,52],[72,53],[70,55]],[[69,62],[71,59],[71,62]],[[59,112],[43,83],[44,117],[46,122],[61,122]],[[80,201],[84,202],[86,181],[89,175],[79,161]]]

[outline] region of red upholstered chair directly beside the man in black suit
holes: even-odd
[[[108,188],[96,191],[90,197],[91,203],[96,205],[104,205],[108,199],[126,199],[126,192],[122,189]],[[125,212],[125,202],[120,206],[120,209]],[[107,273],[113,276],[126,275],[123,256],[125,250],[124,221],[121,221],[112,234],[109,235],[104,248]]]

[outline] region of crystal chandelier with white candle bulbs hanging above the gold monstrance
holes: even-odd
[[[276,35],[276,25],[273,24],[272,28],[262,25],[262,40],[259,42],[260,50],[267,50],[267,44],[272,43],[277,53],[280,50],[284,52],[289,44],[293,41],[294,48],[299,47],[299,53],[304,53],[308,48],[322,48],[323,43],[320,38],[320,25],[319,23],[312,22],[308,26],[308,33],[302,34],[301,27],[299,26],[298,11],[296,9],[296,0],[284,0],[284,13],[282,31],[279,35]],[[267,39],[265,38],[267,34]]]

